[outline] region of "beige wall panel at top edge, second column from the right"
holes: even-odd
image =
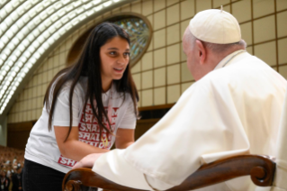
[[[274,13],[274,0],[253,0],[253,18]]]

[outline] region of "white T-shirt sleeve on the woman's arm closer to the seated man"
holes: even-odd
[[[130,96],[126,98],[127,100],[127,109],[125,114],[119,124],[119,128],[121,129],[135,129],[137,123],[137,116],[135,114],[134,105]]]

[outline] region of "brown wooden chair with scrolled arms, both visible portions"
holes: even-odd
[[[204,186],[211,186],[235,177],[250,175],[257,186],[272,186],[275,162],[273,158],[262,155],[241,155],[228,159],[220,159],[203,165],[184,182],[168,189],[168,191],[185,191]],[[118,185],[90,168],[77,168],[67,173],[64,178],[63,191],[84,191],[87,186],[102,187],[110,191],[143,191]]]

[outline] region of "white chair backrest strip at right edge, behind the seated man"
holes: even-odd
[[[287,191],[287,93],[276,143],[276,170],[273,185],[272,191]]]

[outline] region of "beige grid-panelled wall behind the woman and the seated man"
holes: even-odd
[[[65,67],[73,42],[94,23],[119,13],[142,14],[152,24],[148,50],[132,68],[139,89],[139,107],[174,104],[194,82],[181,46],[185,27],[194,14],[220,5],[237,17],[247,50],[287,77],[286,0],[138,0],[95,18],[62,41],[23,88],[8,114],[8,123],[36,121],[49,81]]]

